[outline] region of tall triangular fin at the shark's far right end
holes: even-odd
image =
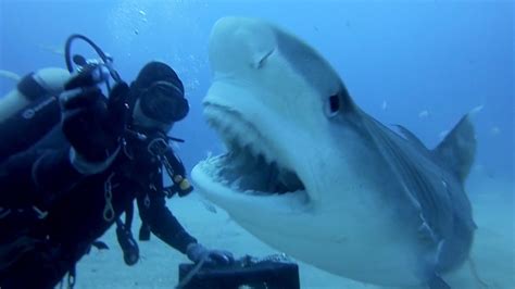
[[[476,135],[469,114],[460,120],[440,144],[434,150],[444,164],[464,181],[470,172],[476,154]]]

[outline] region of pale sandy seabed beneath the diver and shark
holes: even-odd
[[[469,181],[467,187],[478,224],[472,253],[475,273],[466,264],[457,273],[447,276],[445,280],[453,289],[513,289],[513,183],[481,178],[481,181]],[[209,211],[194,193],[188,198],[174,198],[168,201],[168,206],[187,230],[206,247],[229,250],[236,257],[244,254],[262,257],[280,253],[243,230],[223,210],[217,209],[216,213]],[[135,236],[139,224],[139,218],[135,216]],[[141,260],[129,267],[123,261],[114,227],[101,240],[110,250],[92,249],[83,257],[77,266],[75,288],[175,288],[178,282],[178,265],[188,262],[185,255],[152,236],[150,241],[139,242]],[[302,288],[382,288],[335,276],[303,262],[298,263]]]

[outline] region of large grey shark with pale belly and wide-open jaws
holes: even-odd
[[[277,250],[382,286],[450,288],[476,225],[464,191],[469,116],[428,150],[361,110],[310,46],[224,17],[210,38],[204,115],[227,152],[197,164],[198,191]]]

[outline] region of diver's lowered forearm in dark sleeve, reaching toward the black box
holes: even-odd
[[[147,196],[148,201],[146,202]],[[163,192],[149,191],[147,194],[139,194],[138,209],[141,219],[149,225],[150,230],[181,253],[186,254],[188,244],[197,242],[197,239],[185,230],[166,208]]]

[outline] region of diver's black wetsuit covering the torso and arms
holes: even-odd
[[[58,147],[33,148],[1,164],[0,209],[11,213],[0,216],[0,257],[11,263],[0,260],[0,288],[52,288],[135,199],[163,241],[183,253],[197,241],[165,206],[161,164],[143,150],[129,143],[105,172],[84,176],[70,162],[67,142]]]

